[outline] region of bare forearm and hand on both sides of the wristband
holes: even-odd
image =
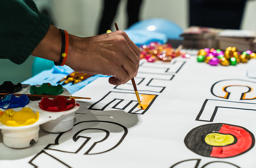
[[[61,33],[54,26],[31,55],[59,62]],[[110,83],[121,85],[137,74],[140,49],[123,31],[93,37],[77,37],[69,34],[69,47],[65,65],[86,74],[113,76]]]

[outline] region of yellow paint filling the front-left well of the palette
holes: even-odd
[[[34,113],[31,108],[24,107],[20,111],[14,111],[12,109],[0,110],[0,122],[10,127],[31,125],[37,122],[38,119],[39,112]]]

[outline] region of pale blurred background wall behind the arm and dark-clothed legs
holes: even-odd
[[[70,34],[83,37],[97,34],[103,0],[34,0],[42,12],[47,10],[54,26],[67,30]],[[120,30],[126,29],[127,0],[119,3],[114,22]],[[141,5],[140,20],[164,18],[186,29],[189,26],[188,0],[144,0]],[[256,32],[256,1],[246,2],[240,29]],[[112,31],[115,30],[113,24]],[[9,60],[0,60],[0,84],[4,81],[22,82],[32,76],[32,56],[22,65]]]

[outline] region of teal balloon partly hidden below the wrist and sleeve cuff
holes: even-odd
[[[49,61],[43,58],[35,57],[32,65],[32,76],[38,74],[39,72],[51,69],[54,66],[53,61]]]

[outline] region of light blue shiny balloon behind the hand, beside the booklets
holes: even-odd
[[[179,35],[183,29],[177,24],[162,18],[153,18],[139,21],[130,26],[127,30],[143,30],[145,32],[164,33],[168,39],[182,40]]]

